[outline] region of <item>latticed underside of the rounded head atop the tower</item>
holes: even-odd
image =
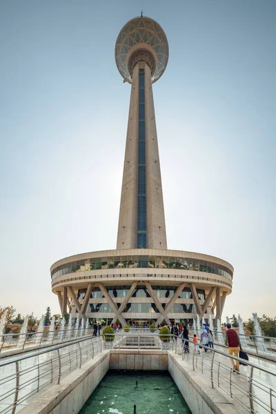
[[[152,74],[152,82],[157,81],[163,74],[168,63],[168,41],[164,30],[152,19],[137,17],[126,23],[117,38],[115,47],[115,60],[121,76],[131,83],[131,75],[128,70],[127,55],[135,45],[148,45],[156,60],[155,72]]]

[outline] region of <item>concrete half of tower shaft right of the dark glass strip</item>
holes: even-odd
[[[150,68],[145,63],[147,248],[167,248],[161,169]]]

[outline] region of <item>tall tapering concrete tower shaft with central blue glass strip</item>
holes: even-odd
[[[166,249],[166,223],[150,67],[132,72],[117,249]]]

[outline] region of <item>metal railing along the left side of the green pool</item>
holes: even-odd
[[[31,351],[0,362],[0,413],[14,414],[17,408],[50,384],[103,351],[101,337],[74,339],[65,344]]]

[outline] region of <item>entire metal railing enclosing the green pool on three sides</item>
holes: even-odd
[[[26,400],[30,401],[30,397],[50,384],[59,384],[63,376],[106,348],[173,351],[188,362],[193,371],[202,375],[212,388],[219,388],[235,400],[242,411],[276,414],[276,371],[246,362],[247,366],[242,366],[240,374],[237,374],[233,371],[231,359],[244,360],[205,346],[197,350],[192,341],[173,335],[130,332],[105,334],[104,338],[113,340],[103,340],[102,335],[73,339],[1,361],[0,414],[14,414]]]

